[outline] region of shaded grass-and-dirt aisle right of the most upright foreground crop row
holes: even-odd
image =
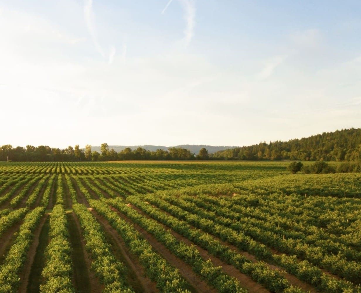
[[[91,259],[85,248],[81,227],[74,212],[66,214],[69,224],[69,242],[72,248],[73,284],[77,292],[101,292],[103,287],[90,270]]]

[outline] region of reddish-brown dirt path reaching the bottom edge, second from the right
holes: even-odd
[[[144,213],[142,210],[135,207],[134,205],[128,204],[128,206],[133,208],[134,210],[136,210],[138,213],[140,213],[145,218],[148,218],[148,219],[151,218],[146,213]],[[157,221],[157,220],[155,220],[155,221]],[[159,225],[161,225],[165,230],[170,232],[177,240],[183,241],[187,245],[192,245],[193,244],[198,249],[198,251],[199,251],[199,253],[200,253],[200,255],[201,255],[201,257],[203,259],[211,259],[214,266],[221,266],[223,272],[225,272],[226,274],[238,279],[239,282],[243,285],[243,287],[248,289],[249,292],[251,292],[251,293],[257,293],[257,292],[267,293],[267,292],[269,292],[269,290],[264,288],[261,284],[258,284],[256,281],[253,281],[251,277],[249,277],[249,276],[247,276],[245,274],[242,274],[234,266],[229,265],[226,262],[222,261],[221,259],[212,256],[211,254],[208,253],[207,250],[199,247],[198,245],[194,244],[192,241],[188,240],[186,237],[178,234],[177,232],[173,231],[172,229],[170,229],[169,227],[163,225],[162,223],[160,223],[158,221],[157,221],[157,223]]]

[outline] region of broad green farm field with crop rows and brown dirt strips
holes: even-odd
[[[0,162],[0,292],[361,293],[361,173],[288,164]]]

